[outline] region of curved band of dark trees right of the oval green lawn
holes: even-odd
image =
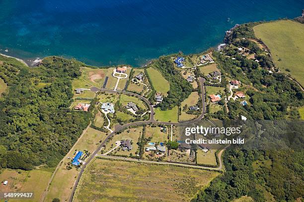
[[[152,65],[156,67],[170,83],[168,95],[159,103],[159,107],[161,110],[166,110],[172,109],[177,105],[179,106],[193,91],[192,85],[174,68],[170,56],[161,56],[157,60],[154,60]]]

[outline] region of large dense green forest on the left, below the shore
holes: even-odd
[[[29,68],[0,58],[0,77],[9,86],[0,100],[0,167],[56,166],[86,128],[90,113],[70,111],[71,81],[82,63],[59,57]]]

